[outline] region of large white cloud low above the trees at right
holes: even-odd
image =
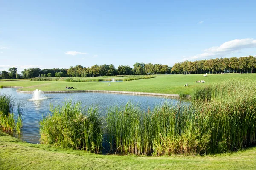
[[[217,47],[211,47],[204,50],[204,53],[198,54],[185,60],[198,60],[198,59],[210,59],[214,57],[224,57],[227,54],[240,52],[244,48],[256,48],[256,40],[253,38],[235,39],[225,42]]]

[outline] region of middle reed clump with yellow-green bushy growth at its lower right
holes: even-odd
[[[165,103],[147,112],[131,103],[112,107],[106,118],[110,150],[153,156],[205,153],[210,132],[203,133],[196,119],[195,110],[183,103]]]

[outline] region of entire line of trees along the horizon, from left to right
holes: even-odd
[[[9,72],[0,71],[0,79],[20,79],[33,77],[96,77],[116,75],[145,75],[145,74],[201,74],[201,73],[253,73],[256,72],[256,57],[215,58],[209,60],[184,61],[175,63],[173,67],[162,64],[136,62],[131,68],[129,65],[93,65],[83,67],[71,66],[69,69],[24,69],[21,74],[17,68],[9,68]]]

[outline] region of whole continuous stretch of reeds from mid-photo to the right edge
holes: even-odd
[[[234,79],[195,89],[180,102],[140,111],[112,107],[107,115],[110,150],[136,155],[195,155],[237,151],[256,144],[256,81]]]

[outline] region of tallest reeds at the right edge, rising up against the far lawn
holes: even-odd
[[[204,130],[211,130],[209,153],[256,144],[255,84],[250,79],[233,79],[194,91],[193,105],[208,118]]]

